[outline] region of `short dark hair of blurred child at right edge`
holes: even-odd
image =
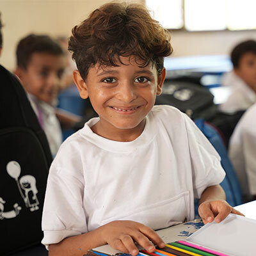
[[[242,56],[246,53],[252,52],[256,54],[256,41],[255,40],[246,40],[237,44],[236,47],[232,50],[230,57],[234,68],[239,67],[239,61]]]

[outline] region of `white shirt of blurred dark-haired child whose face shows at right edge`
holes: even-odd
[[[222,86],[229,86],[232,90],[227,101],[220,105],[223,112],[234,113],[246,110],[256,102],[256,93],[240,77],[236,76],[234,71],[224,75]]]

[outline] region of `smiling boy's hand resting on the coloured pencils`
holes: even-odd
[[[164,241],[154,230],[141,223],[128,220],[112,221],[102,226],[102,239],[114,249],[131,255],[139,253],[134,242],[140,244],[148,252],[154,252],[154,244],[161,248],[164,247]]]

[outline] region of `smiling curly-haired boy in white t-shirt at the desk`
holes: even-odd
[[[220,156],[188,116],[154,106],[170,35],[140,4],[109,3],[75,26],[74,81],[99,115],[60,147],[42,220],[49,255],[83,255],[110,244],[132,255],[164,247],[154,230],[230,212]]]

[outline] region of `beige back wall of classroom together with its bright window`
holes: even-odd
[[[131,0],[129,0],[131,1]],[[13,70],[15,47],[29,33],[70,36],[71,29],[108,0],[0,0],[4,45],[1,65]],[[256,39],[255,0],[137,0],[172,33],[173,57],[226,55]],[[200,61],[202,63],[202,60]]]

